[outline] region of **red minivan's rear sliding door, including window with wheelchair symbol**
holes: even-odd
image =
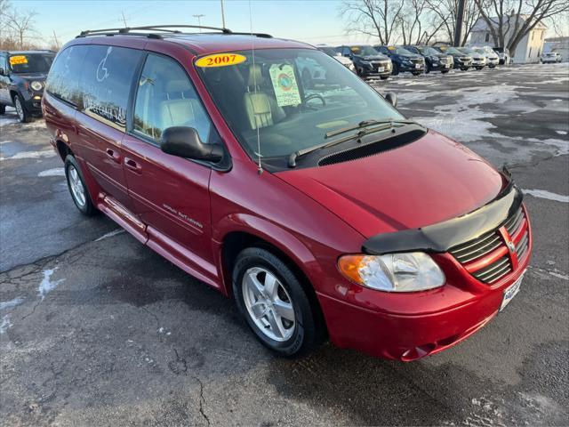
[[[90,45],[79,87],[81,113],[76,114],[78,146],[103,196],[130,208],[121,149],[126,106],[143,52],[124,47]]]

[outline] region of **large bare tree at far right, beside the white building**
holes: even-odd
[[[496,46],[513,56],[517,44],[538,24],[569,11],[566,0],[474,0]]]

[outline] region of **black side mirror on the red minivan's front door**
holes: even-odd
[[[217,163],[223,158],[218,144],[204,144],[193,127],[174,126],[162,133],[160,149],[172,156],[193,158]]]

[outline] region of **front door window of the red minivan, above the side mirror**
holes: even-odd
[[[210,119],[186,72],[174,60],[149,54],[140,75],[133,128],[159,141],[172,126],[193,127],[208,142]]]

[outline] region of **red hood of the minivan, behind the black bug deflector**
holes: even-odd
[[[276,176],[365,238],[467,214],[493,200],[505,185],[484,159],[433,131],[371,157]]]

